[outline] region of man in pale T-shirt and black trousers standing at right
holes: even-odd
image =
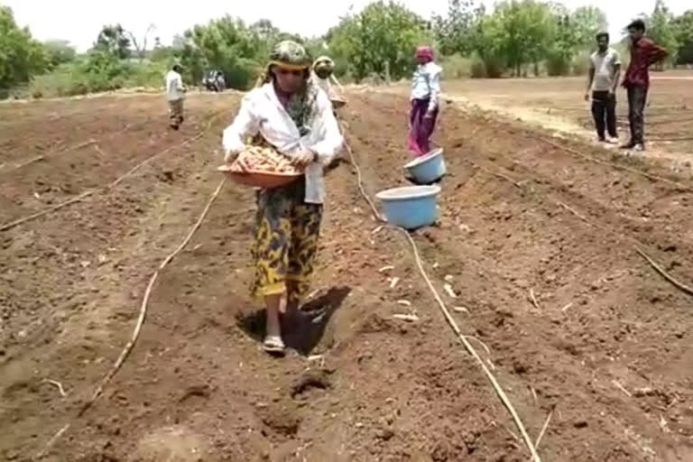
[[[590,56],[587,93],[589,101],[592,90],[592,115],[595,118],[596,134],[600,142],[615,143],[616,134],[616,88],[621,76],[621,57],[618,51],[609,47],[609,34],[600,32],[596,35],[598,51]],[[607,140],[605,132],[608,132]]]

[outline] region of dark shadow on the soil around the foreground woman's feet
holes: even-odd
[[[308,356],[322,339],[329,319],[341,308],[351,293],[350,287],[335,287],[315,300],[310,300],[300,310],[300,316],[293,322],[291,331],[283,335],[284,343],[300,355]],[[251,338],[262,342],[264,338],[264,310],[253,313],[240,313],[236,322],[238,327]],[[289,330],[285,328],[285,332]]]

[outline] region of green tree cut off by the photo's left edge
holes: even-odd
[[[0,96],[28,82],[48,66],[48,57],[40,42],[33,40],[27,28],[14,22],[9,7],[0,5]]]

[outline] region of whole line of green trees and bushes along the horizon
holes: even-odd
[[[640,16],[648,34],[670,51],[662,66],[693,64],[693,9],[677,16],[658,0],[651,14]],[[267,20],[245,23],[226,15],[191,27],[167,46],[156,37],[148,46],[153,24],[140,40],[121,24],[105,25],[92,49],[80,54],[68,42],[34,40],[27,28],[17,26],[10,8],[0,5],[0,97],[23,87],[34,97],[46,97],[159,86],[173,62],[184,66],[191,83],[219,69],[229,87],[245,89],[282,39],[302,42],[315,55],[329,54],[337,75],[353,81],[409,76],[413,51],[423,43],[433,44],[447,67],[467,66],[456,76],[578,74],[586,70],[596,32],[607,25],[604,12],[594,6],[571,10],[556,2],[505,0],[487,12],[476,0],[449,0],[447,14],[426,19],[380,0],[346,14],[321,37],[300,37]]]

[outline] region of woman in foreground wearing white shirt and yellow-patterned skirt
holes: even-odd
[[[310,289],[325,201],[323,169],[343,144],[329,97],[310,79],[310,68],[310,56],[299,43],[278,43],[223,134],[225,162],[236,161],[248,143],[258,143],[305,169],[287,186],[256,191],[251,291],[264,301],[263,347],[275,355],[284,352],[282,333],[290,324],[282,328],[280,316],[295,319]]]

